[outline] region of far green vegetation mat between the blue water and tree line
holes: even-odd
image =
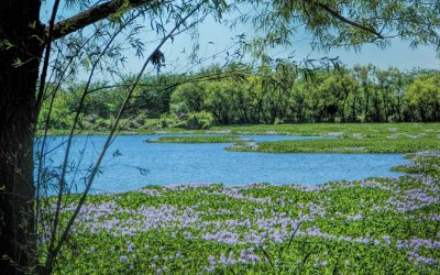
[[[228,128],[231,133],[283,133],[332,139],[238,144],[230,151],[265,153],[414,153],[440,148],[440,123],[288,124]],[[213,130],[223,130],[216,128]]]

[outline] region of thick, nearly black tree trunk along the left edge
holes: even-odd
[[[35,263],[33,139],[37,109],[35,87],[43,52],[43,45],[35,37],[43,33],[40,6],[40,0],[6,0],[0,4],[2,274],[23,273],[22,267],[25,270]]]

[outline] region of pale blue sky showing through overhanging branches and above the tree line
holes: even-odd
[[[47,18],[47,10],[51,8],[52,1],[46,1],[42,9],[42,19]],[[74,14],[72,11],[62,11],[62,15],[69,16]],[[232,19],[237,14],[230,14],[226,19]],[[146,24],[148,26],[150,24]],[[231,47],[233,41],[237,40],[237,35],[245,34],[246,37],[251,37],[255,31],[252,25],[239,25],[233,30],[228,26],[221,25],[215,22],[213,19],[208,18],[204,23],[198,26],[199,32],[199,44],[200,48],[198,55],[200,58],[206,58],[201,66],[208,66],[210,64],[222,64],[227,57],[227,51],[229,53],[233,52]],[[154,40],[155,37],[150,37],[150,33],[146,33],[146,41]],[[162,48],[165,54],[166,66],[163,72],[172,73],[185,73],[188,70],[197,70],[200,65],[193,66],[188,63],[188,55],[190,48],[193,47],[193,37],[189,34],[183,33],[175,37],[172,43],[168,41]],[[305,33],[299,31],[292,37],[292,46],[279,48],[270,52],[271,57],[287,57],[294,53],[294,58],[296,61],[301,61],[305,58],[320,58],[323,56],[328,57],[339,57],[342,64],[352,67],[355,64],[373,64],[382,69],[386,69],[389,66],[397,67],[402,70],[411,69],[415,67],[419,68],[440,68],[440,59],[436,56],[433,47],[419,46],[413,50],[408,42],[400,40],[391,41],[391,45],[385,50],[381,50],[373,44],[366,44],[362,47],[360,52],[346,51],[346,50],[331,50],[329,52],[312,51],[309,45],[310,37]],[[154,48],[155,44],[147,44],[150,48]],[[150,53],[144,55],[144,58],[148,56]],[[212,57],[212,56],[216,56]],[[136,73],[141,69],[144,59],[139,59],[133,54],[128,54],[128,62],[125,65],[124,73]],[[209,58],[212,57],[212,58]]]

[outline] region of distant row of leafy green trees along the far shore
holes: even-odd
[[[106,129],[124,97],[124,84],[96,82],[80,127]],[[55,99],[51,128],[66,129],[81,91],[69,84]],[[42,117],[45,117],[43,108]],[[123,128],[305,122],[440,121],[440,72],[373,65],[304,70],[287,63],[228,68],[191,75],[146,76],[125,113]]]

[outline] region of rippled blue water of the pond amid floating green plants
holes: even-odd
[[[391,172],[408,161],[399,154],[268,154],[223,150],[230,144],[145,143],[154,135],[121,135],[112,143],[102,164],[102,173],[94,183],[95,191],[125,191],[145,185],[193,183],[252,183],[317,185],[339,179],[398,176]],[[241,135],[258,142],[310,139],[286,135]],[[65,136],[51,138],[47,154],[51,165],[62,163]],[[96,161],[106,136],[77,136],[73,145],[73,167],[80,162],[75,179],[77,190],[84,188],[87,168]],[[59,144],[62,144],[59,146]],[[58,146],[58,147],[57,147]],[[80,153],[84,151],[84,154]],[[82,155],[82,156],[81,156]],[[75,189],[74,189],[75,191]]]

